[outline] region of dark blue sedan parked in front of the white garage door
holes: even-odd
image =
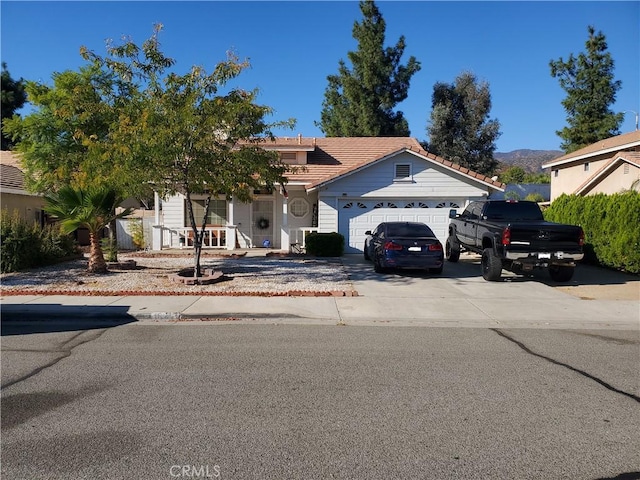
[[[426,269],[442,273],[442,244],[428,225],[420,222],[383,222],[366,232],[364,258],[373,261],[373,269]]]

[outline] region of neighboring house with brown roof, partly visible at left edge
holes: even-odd
[[[29,193],[24,189],[24,173],[20,168],[16,154],[0,151],[0,208],[9,214],[18,215],[27,221],[44,222],[41,195]]]

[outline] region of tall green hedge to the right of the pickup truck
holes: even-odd
[[[587,262],[640,273],[640,192],[562,195],[544,216],[582,227]]]

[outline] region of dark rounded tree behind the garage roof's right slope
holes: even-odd
[[[491,93],[487,82],[478,83],[470,72],[452,84],[433,87],[428,149],[447,160],[485,175],[498,166],[493,157],[500,136],[498,120],[489,120]]]

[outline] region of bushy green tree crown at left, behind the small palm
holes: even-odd
[[[126,196],[150,196],[133,155],[115,141],[129,123],[126,100],[134,92],[96,65],[54,73],[52,79],[52,86],[27,82],[34,112],[5,122],[17,140],[27,188],[47,193],[104,185]]]

